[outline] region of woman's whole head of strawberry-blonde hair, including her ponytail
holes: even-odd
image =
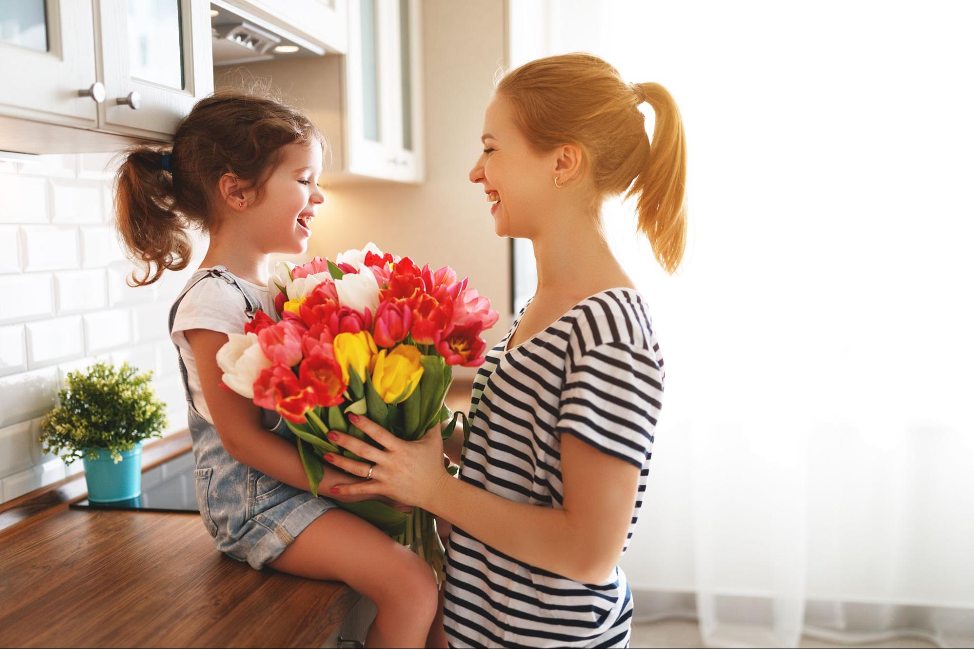
[[[670,93],[659,84],[627,84],[591,54],[525,63],[496,90],[511,101],[515,122],[538,153],[581,146],[600,202],[626,189],[625,198],[639,197],[639,230],[659,265],[675,272],[687,240],[687,146]],[[652,145],[638,108],[644,101],[656,113]]]

